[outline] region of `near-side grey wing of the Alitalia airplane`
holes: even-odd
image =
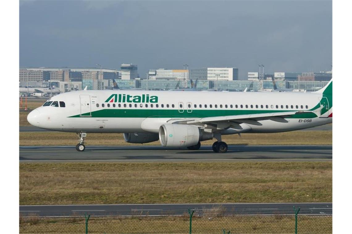
[[[171,119],[169,123],[178,124],[189,124],[189,125],[209,125],[216,126],[217,129],[231,128],[241,128],[240,123],[248,123],[252,125],[262,125],[258,120],[272,120],[276,122],[287,123],[287,118],[291,115],[303,113],[297,111],[287,111],[287,112],[272,112],[272,113],[261,113],[261,114],[244,114],[244,115],[226,115],[226,116],[215,116],[215,117],[205,117],[196,119]]]

